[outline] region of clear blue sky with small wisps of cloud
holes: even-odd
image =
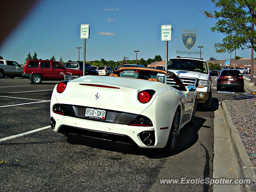
[[[215,10],[210,0],[42,0],[39,1],[16,29],[0,46],[0,56],[24,63],[27,54],[34,51],[38,58],[78,60],[78,49],[83,47],[80,25],[90,24],[90,38],[86,40],[86,60],[122,60],[124,56],[138,59],[160,55],[165,60],[165,42],[161,41],[161,25],[171,24],[168,58],[187,51],[182,43],[182,29],[198,29],[194,47],[202,48],[202,58],[230,58],[230,54],[216,54],[214,43],[224,36],[213,33],[210,27],[216,20],[207,19],[200,10]],[[237,50],[237,56],[250,58],[250,50]],[[254,56],[255,57],[255,56]],[[234,58],[234,53],[232,53]],[[80,49],[80,60],[83,50]]]

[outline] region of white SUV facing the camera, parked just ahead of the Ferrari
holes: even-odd
[[[205,103],[210,108],[212,78],[209,66],[205,60],[177,56],[168,61],[167,70],[174,72],[185,86],[195,86],[197,102]],[[166,83],[171,86],[176,84],[176,82],[168,78]]]

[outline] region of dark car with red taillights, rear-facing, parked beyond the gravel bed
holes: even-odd
[[[244,91],[244,78],[237,69],[223,69],[217,79],[217,91],[221,89],[239,89]]]

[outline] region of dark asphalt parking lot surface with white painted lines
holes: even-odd
[[[78,141],[52,131],[50,98],[58,81],[30,84],[0,79],[0,191],[212,191],[211,186],[160,185],[159,179],[212,178],[213,111],[198,106],[195,123],[185,126],[174,153]],[[214,85],[213,85],[214,86]],[[220,94],[213,102],[244,97]],[[2,138],[24,134],[16,138]]]

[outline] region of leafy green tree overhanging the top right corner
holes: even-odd
[[[204,11],[206,18],[218,20],[212,32],[220,32],[225,38],[215,43],[217,53],[235,49],[253,48],[256,51],[256,3],[255,0],[212,0],[218,10]]]

